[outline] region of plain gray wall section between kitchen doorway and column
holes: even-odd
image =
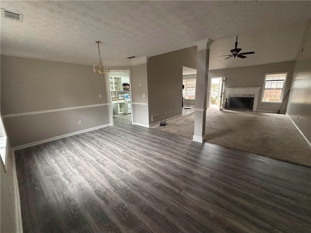
[[[147,64],[149,124],[151,116],[164,119],[181,114],[183,66],[196,69],[197,47],[150,57]],[[170,114],[171,110],[171,114]]]

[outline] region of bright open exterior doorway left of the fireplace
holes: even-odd
[[[223,92],[223,77],[213,77],[210,82],[209,107],[220,108]]]

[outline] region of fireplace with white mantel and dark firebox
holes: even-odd
[[[261,86],[225,88],[224,99],[228,100],[229,109],[257,111]],[[225,100],[223,102],[223,106]]]

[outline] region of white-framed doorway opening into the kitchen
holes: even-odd
[[[111,122],[120,126],[133,124],[130,70],[111,70],[108,86]]]

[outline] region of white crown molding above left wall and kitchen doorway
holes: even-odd
[[[52,62],[64,62],[64,63],[72,63],[72,64],[79,64],[79,65],[86,65],[86,66],[93,66],[92,64],[88,63],[81,63],[81,62],[70,62],[70,61],[63,61],[63,60],[56,60],[56,59],[47,59],[47,58],[40,58],[40,57],[32,57],[32,56],[23,56],[23,55],[15,55],[15,54],[8,54],[8,53],[1,53],[1,55],[5,56],[12,56],[12,57],[22,57],[22,58],[30,58],[30,59],[38,59],[38,60],[45,60],[45,61],[52,61]],[[132,59],[124,59],[124,60],[102,60],[103,64],[109,64],[109,67],[113,66],[120,66],[120,67],[127,67],[127,66],[137,66],[141,64],[146,64],[149,57],[137,57]]]

